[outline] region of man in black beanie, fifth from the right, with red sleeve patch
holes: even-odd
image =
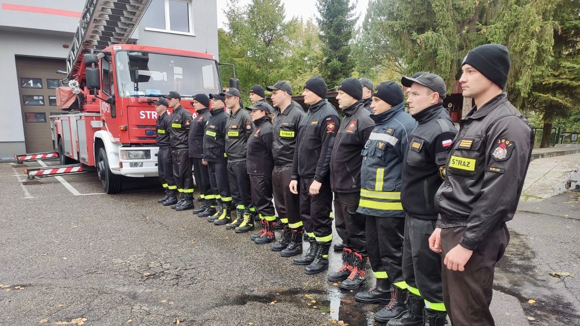
[[[306,255],[292,262],[307,265],[306,274],[317,274],[328,268],[332,241],[329,165],[340,121],[336,109],[326,99],[327,90],[320,77],[311,77],[304,85],[302,95],[310,107],[298,128],[289,184],[292,193],[300,195],[300,218],[310,242]]]

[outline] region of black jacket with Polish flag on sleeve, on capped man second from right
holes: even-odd
[[[441,104],[425,108],[413,118],[419,125],[409,136],[401,176],[401,202],[407,213],[436,220],[434,197],[445,178],[447,150],[457,134]]]

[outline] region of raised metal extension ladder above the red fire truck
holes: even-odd
[[[78,71],[81,54],[124,44],[151,0],[87,0],[67,57],[67,73]]]

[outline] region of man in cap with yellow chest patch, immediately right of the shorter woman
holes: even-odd
[[[272,103],[277,107],[273,126],[272,184],[276,212],[280,216],[280,223],[284,224],[282,239],[277,244],[273,244],[271,249],[280,251],[282,257],[292,257],[302,253],[303,223],[300,220],[300,198],[290,192],[288,184],[290,184],[292,174],[298,125],[306,114],[302,106],[292,100],[292,87],[288,82],[278,81],[274,86],[268,86],[266,89],[272,92]]]

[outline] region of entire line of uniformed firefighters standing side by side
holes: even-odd
[[[357,289],[368,260],[376,285],[356,300],[387,304],[375,320],[443,325],[449,314],[454,325],[494,325],[493,271],[509,241],[505,222],[532,142],[527,121],[502,92],[506,56],[501,45],[466,56],[460,82],[476,106],[459,131],[442,106],[445,83],[432,73],[401,80],[409,113],[395,82],[344,79],[336,96],[342,120],[320,77],[304,86],[307,113],[286,81],[266,88],[274,107],[259,85],[245,110],[235,88],[195,95],[195,117],[170,92],[155,102],[166,189],[158,202],[236,233],[259,222],[250,236],[256,244],[276,242],[281,229],[271,250],[282,257],[300,255],[309,242],[292,260],[306,274],[328,269],[334,220],[343,265],[328,280]]]

